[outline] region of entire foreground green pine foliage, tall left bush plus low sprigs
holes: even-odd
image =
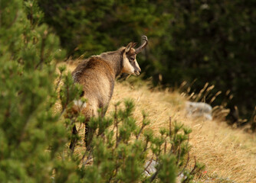
[[[67,143],[80,140],[71,128],[85,119],[69,110],[81,87],[64,67],[55,72],[64,58],[59,40],[35,1],[0,3],[0,182],[175,182],[177,175],[188,182],[202,170],[188,167],[191,130],[170,120],[169,130],[153,134],[145,113],[138,127],[129,100],[89,121],[90,148],[70,150]],[[153,159],[156,172],[146,176]]]

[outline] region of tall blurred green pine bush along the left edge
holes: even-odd
[[[0,181],[50,182],[66,130],[51,110],[59,40],[34,1],[0,2]]]

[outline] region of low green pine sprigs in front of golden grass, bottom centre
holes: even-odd
[[[77,160],[79,176],[84,182],[176,182],[177,175],[183,175],[182,182],[192,181],[195,174],[204,169],[195,160],[189,169],[189,133],[182,124],[169,120],[169,130],[162,129],[159,135],[147,128],[150,121],[143,113],[141,127],[133,118],[133,101],[126,100],[124,107],[115,104],[111,117],[93,117],[90,127],[90,148],[83,156],[71,152]],[[77,119],[80,114],[76,114]],[[71,116],[70,116],[71,117]],[[72,117],[76,119],[76,117]],[[82,123],[83,121],[74,120]],[[146,176],[146,162],[157,162],[156,172]]]

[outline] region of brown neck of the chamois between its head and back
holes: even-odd
[[[125,47],[121,47],[119,50],[101,53],[100,58],[104,59],[106,63],[113,68],[115,75],[120,75],[123,69],[123,51]]]

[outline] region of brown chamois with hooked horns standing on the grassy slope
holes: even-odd
[[[113,87],[115,79],[121,73],[132,75],[139,75],[141,69],[136,61],[136,54],[141,52],[147,45],[148,40],[146,36],[142,37],[143,43],[140,47],[134,48],[136,43],[129,43],[126,47],[120,47],[116,51],[101,53],[97,56],[90,56],[80,63],[72,76],[74,82],[79,83],[83,87],[82,98],[87,98],[87,102],[82,103],[74,101],[72,110],[74,112],[81,111],[85,116],[85,125],[90,117],[97,117],[98,109],[106,113],[108,104],[113,95]],[[84,142],[86,146],[90,145],[88,139],[88,131],[90,129],[85,127]],[[77,134],[77,128],[74,125],[73,134]],[[74,149],[77,140],[71,140],[70,149]]]

